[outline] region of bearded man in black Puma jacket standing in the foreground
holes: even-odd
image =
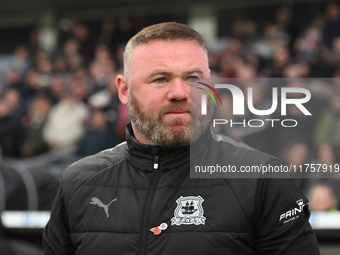
[[[124,65],[117,85],[131,119],[127,141],[65,171],[45,255],[319,254],[307,200],[291,179],[190,178],[193,157],[280,164],[212,134],[209,118],[190,108],[198,104],[190,82],[209,78],[200,34],[178,23],[147,27],[127,44]],[[297,201],[293,219],[286,212]]]

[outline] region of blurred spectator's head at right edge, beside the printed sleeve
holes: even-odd
[[[308,192],[311,211],[338,211],[338,199],[330,186],[316,185]]]

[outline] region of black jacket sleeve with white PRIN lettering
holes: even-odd
[[[252,219],[255,254],[319,255],[309,216],[308,201],[291,178],[260,178]]]

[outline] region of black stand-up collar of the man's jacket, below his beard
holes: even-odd
[[[206,129],[200,139],[193,143],[191,147],[195,148],[195,151],[201,150],[209,138],[211,138],[211,132]],[[131,123],[126,125],[126,141],[129,151],[127,159],[141,171],[154,171],[155,156],[158,156],[158,170],[160,171],[169,171],[190,164],[190,146],[169,149],[141,144],[134,136]]]

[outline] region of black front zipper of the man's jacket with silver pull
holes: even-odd
[[[158,178],[159,178],[159,170],[158,170],[158,160],[159,156],[155,155],[154,156],[154,164],[153,164],[153,169],[154,169],[154,175],[152,178],[152,183],[151,183],[151,189],[148,195],[148,199],[146,201],[146,206],[144,209],[144,216],[143,216],[143,222],[142,222],[142,229],[141,229],[141,239],[140,239],[140,250],[139,254],[144,255],[147,254],[147,248],[148,248],[148,234],[150,232],[150,229],[148,228],[148,223],[150,219],[150,211],[151,211],[151,206],[152,202],[156,193],[157,185],[158,185]]]

